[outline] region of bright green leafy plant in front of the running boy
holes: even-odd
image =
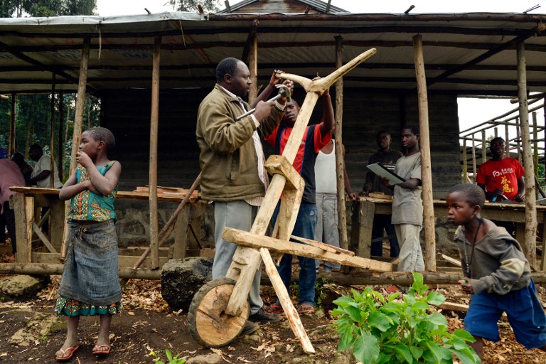
[[[362,293],[333,301],[338,307],[333,317],[340,334],[338,350],[353,348],[355,358],[375,363],[453,363],[453,355],[463,364],[480,363],[468,345],[472,335],[465,330],[448,331],[446,318],[430,306],[444,303],[437,291],[428,292],[423,276],[413,274],[413,285],[397,300],[400,292],[385,297],[367,287]]]

